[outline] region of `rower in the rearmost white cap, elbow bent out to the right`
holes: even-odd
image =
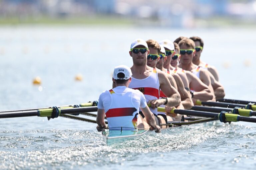
[[[167,51],[170,51],[170,49],[175,50],[174,44],[170,40],[163,40],[162,42],[160,42],[160,44],[162,44],[164,46],[165,50],[167,50]],[[176,51],[176,52],[177,52],[177,54],[179,54],[179,51]],[[171,70],[173,70],[172,71],[173,73],[178,74],[180,76],[181,80],[183,81],[185,89],[189,93],[190,93],[190,88],[192,88],[194,90],[194,92],[191,95],[191,97],[193,97],[194,103],[196,102],[196,100],[211,101],[213,99],[213,94],[211,93],[210,89],[199,78],[197,78],[191,72],[188,72],[188,71],[178,68],[177,64],[176,65],[170,64],[172,62],[172,60],[176,60],[176,58],[174,57],[176,52],[169,52],[169,54],[168,53],[166,54],[167,59],[164,62],[163,67],[165,69],[170,68]],[[173,62],[173,63],[175,63],[175,62]],[[168,67],[168,64],[169,64],[169,67]],[[186,84],[187,84],[187,86],[186,86]]]

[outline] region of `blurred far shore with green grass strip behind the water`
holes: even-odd
[[[255,0],[0,0],[0,24],[255,27]]]

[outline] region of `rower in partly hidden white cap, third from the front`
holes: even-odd
[[[174,72],[170,72],[169,70],[165,69],[163,67],[164,62],[166,61],[167,57],[165,56],[165,49],[164,46],[161,46],[161,50],[160,50],[160,59],[156,64],[156,68],[160,69],[161,71],[167,73],[168,77],[173,77],[175,80],[175,84],[174,87],[177,87],[176,89],[178,90],[179,94],[180,94],[180,98],[181,98],[181,104],[184,107],[184,109],[191,109],[191,107],[193,107],[193,101],[191,99],[191,94],[189,91],[187,91],[187,89],[185,89],[184,84],[180,78],[180,76]],[[170,78],[169,78],[170,80]],[[160,93],[161,95],[161,93]],[[160,96],[160,97],[164,97],[164,96]]]

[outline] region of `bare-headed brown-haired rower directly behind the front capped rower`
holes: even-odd
[[[161,71],[158,68],[156,68],[156,64],[160,60],[159,54],[161,51],[161,47],[160,47],[159,43],[155,40],[148,40],[146,42],[147,42],[147,45],[148,45],[148,48],[150,51],[150,54],[147,57],[147,65],[156,69],[157,71]],[[163,58],[161,60],[163,60]],[[177,90],[177,85],[176,85],[174,78],[170,74],[166,74],[166,76],[167,76],[168,80],[170,81],[172,87],[174,87]],[[185,93],[187,93],[185,89],[184,89],[184,91],[185,91]],[[166,98],[166,97],[167,96],[160,90],[159,99]],[[161,105],[160,107],[165,107],[165,106]],[[184,109],[184,107],[182,106],[181,103],[178,106],[176,106],[176,108]],[[177,114],[166,115],[165,112],[158,112],[157,116],[160,119],[160,122],[163,124],[166,124],[168,121],[181,121],[181,117],[182,117],[181,115],[177,115]],[[166,126],[162,126],[161,128],[166,128]]]

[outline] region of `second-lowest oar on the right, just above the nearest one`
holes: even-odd
[[[252,111],[249,109],[242,109],[239,107],[235,107],[234,109],[229,109],[229,108],[213,108],[213,107],[206,107],[206,106],[193,106],[191,110],[214,112],[214,113],[220,113],[222,111],[225,111],[225,112],[231,112],[233,114],[246,116],[246,117],[256,116],[255,111]]]

